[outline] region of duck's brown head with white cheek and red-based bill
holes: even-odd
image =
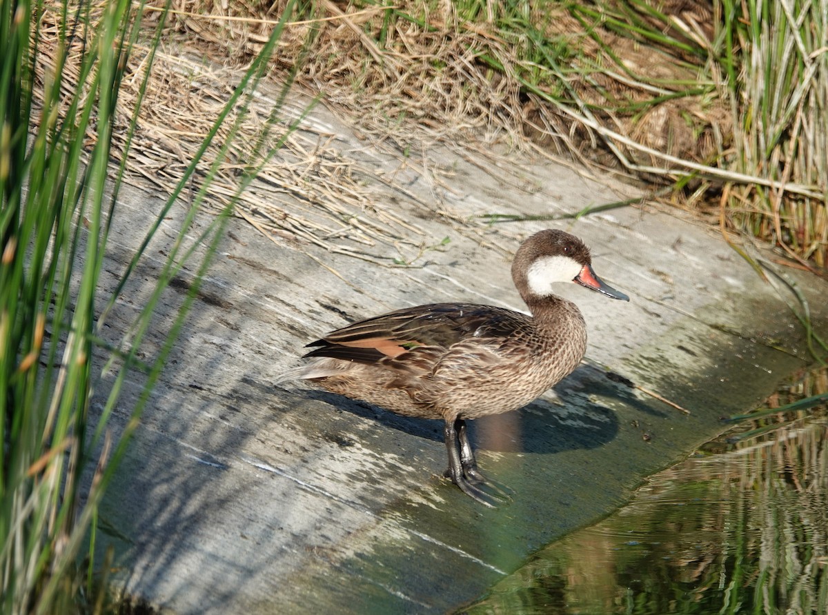
[[[574,235],[556,229],[535,233],[517,249],[512,276],[524,300],[554,295],[555,282],[576,282],[613,299],[628,301],[595,275],[590,248]]]

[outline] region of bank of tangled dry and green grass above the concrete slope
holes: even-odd
[[[217,57],[255,50],[280,4],[174,2]],[[217,12],[218,11],[218,12]],[[575,158],[718,209],[825,266],[828,4],[308,3],[301,79],[407,151],[458,139]],[[282,47],[282,65],[296,55]]]

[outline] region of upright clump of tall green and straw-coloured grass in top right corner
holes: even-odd
[[[828,266],[828,2],[722,2],[734,118],[729,169],[773,185],[726,185],[723,204],[751,233]],[[726,49],[726,48],[725,48]]]

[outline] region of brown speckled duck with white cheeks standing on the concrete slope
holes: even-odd
[[[398,415],[444,421],[445,478],[494,507],[508,496],[480,471],[466,420],[526,406],[575,370],[586,352],[583,315],[552,286],[575,282],[629,300],[595,274],[585,243],[558,229],[518,247],[512,278],[531,315],[474,303],[395,310],[310,342],[304,355],[310,361],[277,383],[308,381]]]

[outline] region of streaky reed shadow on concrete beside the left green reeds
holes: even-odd
[[[118,243],[108,252],[107,273],[114,280],[131,253]],[[142,262],[132,274],[104,330],[113,343],[147,300],[157,265]],[[164,344],[189,284],[180,278],[165,291],[142,342],[145,360]],[[294,514],[291,504],[301,505],[284,497],[267,523],[248,522],[245,500],[251,483],[262,478],[227,478],[238,466],[234,452],[244,449],[260,425],[260,417],[248,423],[243,416],[243,409],[255,407],[255,396],[244,386],[228,387],[236,378],[228,364],[239,357],[233,344],[223,346],[239,334],[229,324],[237,320],[229,314],[236,309],[218,293],[200,292],[99,508],[98,560],[112,545],[118,582],[128,593],[151,596],[159,607],[198,603],[200,611],[226,612],[246,584],[257,583],[262,570],[272,567],[277,550],[262,545],[280,517]],[[103,407],[110,382],[96,386],[93,411]],[[141,372],[127,377],[109,424],[113,434],[123,432],[145,382]],[[273,495],[278,497],[277,489]],[[240,546],[229,550],[229,544]]]

